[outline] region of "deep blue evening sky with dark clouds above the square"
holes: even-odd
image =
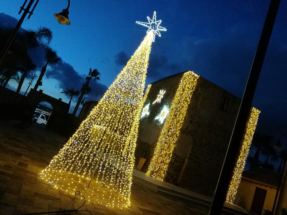
[[[23,0],[24,1],[24,0]],[[0,0],[0,26],[17,23],[23,1]],[[45,26],[52,30],[51,47],[62,62],[48,67],[44,93],[69,101],[60,94],[65,87],[80,90],[89,68],[101,73],[100,82],[90,84],[89,98],[99,100],[125,66],[146,35],[146,16],[157,12],[161,38],[156,36],[147,69],[146,85],[185,70],[192,70],[214,84],[242,97],[259,41],[269,1],[88,1],[71,0],[71,25],[54,18],[67,1],[40,0],[22,28]],[[261,110],[257,132],[278,138],[287,135],[287,1],[281,1],[253,106]],[[161,60],[160,60],[160,57]],[[30,52],[39,73],[45,64],[43,51]],[[162,61],[162,64],[161,64]],[[25,92],[28,77],[21,92]],[[36,81],[34,82],[34,84]],[[10,88],[15,88],[9,82]],[[33,87],[33,86],[32,86]],[[73,110],[75,98],[71,104]],[[79,108],[80,110],[80,108]],[[287,139],[282,139],[286,142]],[[253,152],[251,152],[253,153]]]

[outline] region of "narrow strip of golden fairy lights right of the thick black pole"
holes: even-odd
[[[242,148],[239,153],[239,157],[236,162],[236,166],[233,170],[233,176],[229,183],[228,192],[226,196],[226,202],[233,203],[239,182],[241,179],[242,171],[245,165],[245,160],[247,158],[253,134],[256,128],[257,120],[259,117],[260,111],[256,108],[252,108],[248,117],[248,121],[245,127],[245,135],[242,140]]]

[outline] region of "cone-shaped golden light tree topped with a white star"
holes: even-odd
[[[54,156],[41,178],[70,194],[112,207],[130,205],[132,168],[144,85],[155,34],[166,30],[148,17],[147,35],[98,105]],[[149,87],[147,88],[147,90]],[[147,93],[146,93],[147,94]]]

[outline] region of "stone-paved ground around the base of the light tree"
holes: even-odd
[[[36,125],[22,129],[18,124],[0,121],[0,214],[41,213],[80,207],[82,200],[76,198],[73,206],[74,196],[37,180],[37,172],[49,164],[67,139]],[[141,182],[132,184],[131,193],[129,208],[115,209],[86,202],[80,210],[88,210],[95,215],[208,214],[208,207],[198,202],[155,192]]]

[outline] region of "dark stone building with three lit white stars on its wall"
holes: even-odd
[[[147,144],[151,147],[151,154],[142,169],[144,172],[151,166],[151,159],[155,156],[159,138],[165,138],[161,134],[167,126],[165,117],[170,114],[167,112],[176,99],[178,88],[186,73],[178,73],[153,82],[147,92],[137,142],[137,148]],[[183,122],[179,120],[182,125],[179,128],[174,149],[168,149],[172,152],[171,159],[168,160],[167,165],[162,164],[167,166],[164,181],[212,196],[241,100],[212,82],[194,75],[197,79],[194,81],[196,85],[183,89],[187,93],[194,87],[191,100],[182,101],[188,103],[187,112],[181,118]],[[177,105],[182,105],[181,99],[184,99],[184,95],[178,95]],[[176,107],[176,105],[173,106]]]

